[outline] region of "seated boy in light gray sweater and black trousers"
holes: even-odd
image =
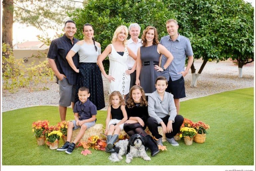
[[[162,135],[159,134],[157,127],[163,128],[163,133],[166,135],[166,140],[174,146],[178,146],[174,136],[180,130],[183,123],[183,116],[177,115],[173,95],[165,91],[168,86],[168,81],[165,77],[157,77],[156,91],[148,96],[148,113],[149,118],[147,126],[152,135],[157,138],[158,145],[163,146]]]

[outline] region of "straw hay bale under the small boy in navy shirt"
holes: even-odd
[[[98,136],[100,136],[100,133],[103,132],[103,129],[102,129],[102,128],[103,128],[103,125],[102,125],[102,124],[95,124],[93,127],[86,129],[86,131],[85,131],[85,133],[84,133],[84,135],[83,135],[83,137],[81,138],[80,141],[87,141],[88,138],[89,138],[90,136],[93,136],[93,135],[98,135]],[[75,139],[76,136],[78,135],[79,131],[80,131],[80,128],[78,128],[78,129],[76,129],[76,130],[73,130],[71,142],[74,141],[74,139]]]

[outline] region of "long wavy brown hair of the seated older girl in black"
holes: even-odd
[[[133,101],[133,99],[132,99],[132,91],[133,90],[136,90],[136,89],[139,89],[140,90],[140,92],[141,92],[141,94],[142,94],[142,96],[141,96],[141,98],[140,98],[140,100],[141,100],[141,102],[140,102],[140,106],[148,106],[148,102],[147,102],[147,100],[146,100],[146,95],[145,95],[145,91],[143,90],[143,88],[141,87],[141,86],[139,86],[139,85],[134,85],[134,86],[132,86],[132,88],[130,89],[130,92],[129,92],[129,95],[128,95],[128,99],[127,99],[127,107],[128,108],[132,108],[132,107],[134,107],[135,106],[135,104],[134,104],[134,101]]]

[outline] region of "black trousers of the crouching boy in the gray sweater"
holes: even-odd
[[[169,117],[170,116],[168,115],[164,118],[161,118],[166,126],[167,126]],[[184,120],[183,116],[177,115],[174,119],[173,131],[171,133],[166,133],[165,136],[167,138],[174,137],[178,133],[178,131],[180,130],[180,127],[183,123],[183,120]],[[157,128],[159,126],[161,127],[161,124],[158,124],[155,118],[149,117],[148,120],[147,120],[147,125],[148,125],[148,128],[149,128],[149,130],[150,130],[150,132],[152,133],[153,136],[155,136],[157,139],[162,138],[162,135],[160,135],[158,133],[158,128]]]

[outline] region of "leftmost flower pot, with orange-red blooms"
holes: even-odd
[[[49,126],[48,120],[43,121],[36,121],[32,124],[32,132],[34,132],[35,137],[37,138],[37,144],[38,145],[44,145],[45,144],[45,135],[43,131],[47,129]]]

